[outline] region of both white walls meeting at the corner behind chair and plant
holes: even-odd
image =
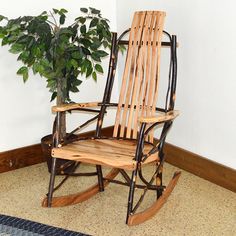
[[[130,26],[135,10],[167,12],[165,28],[177,34],[180,43],[176,108],[181,110],[167,141],[236,168],[234,1],[4,0],[0,14],[16,17],[64,7],[74,17],[82,6],[101,9],[119,32]],[[45,81],[32,77],[23,84],[15,74],[18,67],[15,56],[0,47],[0,151],[38,143],[51,130]],[[97,100],[104,82],[87,80],[74,100]]]

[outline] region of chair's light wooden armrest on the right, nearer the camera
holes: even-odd
[[[179,111],[169,111],[159,116],[141,116],[139,121],[142,123],[156,123],[174,120],[179,115]]]

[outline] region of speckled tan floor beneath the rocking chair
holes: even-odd
[[[165,178],[176,169],[166,164]],[[81,204],[48,209],[41,207],[48,178],[45,164],[0,174],[0,213],[98,236],[236,235],[236,194],[185,171],[158,214],[133,227],[125,224],[126,187],[111,184]],[[93,177],[81,181],[71,178],[60,191],[75,192]]]

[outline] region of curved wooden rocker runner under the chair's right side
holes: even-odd
[[[177,184],[181,172],[177,171],[175,172],[172,180],[166,187],[165,191],[162,193],[161,197],[158,198],[158,200],[148,209],[136,213],[134,215],[130,215],[128,218],[128,225],[137,225],[145,222],[146,220],[153,217],[160,209],[161,207],[166,203],[167,198],[170,196],[171,192],[173,191],[175,185]]]

